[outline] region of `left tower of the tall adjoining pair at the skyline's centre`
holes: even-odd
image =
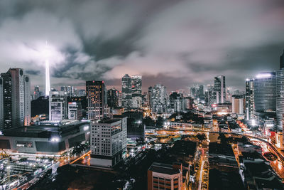
[[[126,109],[131,109],[132,104],[132,89],[131,89],[131,77],[127,74],[122,78],[122,89],[121,89],[121,105]]]

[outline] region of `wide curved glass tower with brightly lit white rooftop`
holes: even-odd
[[[253,81],[253,90],[256,112],[275,112],[275,72],[265,72],[256,75],[256,78]]]

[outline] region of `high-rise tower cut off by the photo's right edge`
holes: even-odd
[[[276,73],[276,117],[278,129],[282,130],[284,115],[284,51],[280,56],[280,70]]]

